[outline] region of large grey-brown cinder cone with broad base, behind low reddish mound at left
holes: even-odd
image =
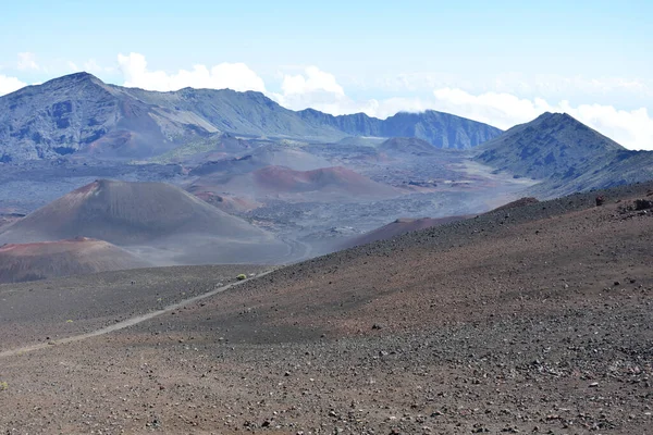
[[[91,237],[130,247],[158,263],[260,262],[284,252],[269,233],[163,183],[100,179],[28,214],[0,243]],[[152,256],[152,258],[148,257]],[[283,257],[283,254],[281,256]]]

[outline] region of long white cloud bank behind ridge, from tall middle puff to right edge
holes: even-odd
[[[617,85],[644,90],[639,84]],[[588,86],[607,85],[595,82]],[[653,150],[653,117],[646,108],[626,111],[605,104],[572,105],[566,100],[551,103],[538,97],[520,98],[509,92],[473,95],[451,87],[436,88],[432,91],[432,97],[427,98],[355,101],[345,94],[332,74],[316,66],[307,67],[304,74],[285,75],[281,88],[282,94],[271,97],[280,104],[294,110],[313,108],[335,115],[364,112],[381,119],[402,111],[438,110],[503,129],[532,121],[543,112],[566,112],[627,148]]]

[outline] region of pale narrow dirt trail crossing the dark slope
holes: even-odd
[[[266,276],[266,275],[268,275],[269,273],[271,273],[274,270],[270,270],[270,271],[267,271],[267,272],[259,273],[258,275],[256,275],[256,277]],[[206,299],[206,298],[210,298],[211,296],[218,295],[219,293],[226,291],[226,290],[229,290],[230,288],[232,288],[234,286],[237,286],[237,285],[239,285],[242,283],[245,283],[246,281],[248,281],[248,279],[238,281],[236,283],[231,283],[231,284],[227,284],[225,286],[214,288],[214,289],[212,289],[212,290],[210,290],[208,293],[205,293],[205,294],[201,294],[201,295],[194,296],[192,298],[182,300],[181,302],[173,303],[173,304],[168,306],[168,307],[165,307],[165,308],[163,308],[161,310],[152,311],[152,312],[149,312],[147,314],[141,314],[141,315],[137,315],[135,318],[123,320],[122,322],[118,322],[118,323],[115,323],[113,325],[106,326],[106,327],[102,327],[100,330],[91,331],[91,332],[86,333],[86,334],[73,335],[71,337],[61,338],[61,339],[58,339],[58,340],[52,340],[52,341],[48,341],[48,343],[39,343],[39,344],[36,344],[36,345],[23,346],[23,347],[16,348],[16,349],[5,350],[5,351],[0,352],[0,358],[14,357],[14,356],[17,356],[17,355],[27,353],[27,352],[32,352],[32,351],[35,351],[35,350],[40,350],[40,349],[49,348],[49,347],[54,346],[54,345],[65,345],[67,343],[81,341],[83,339],[87,339],[87,338],[91,338],[91,337],[97,337],[99,335],[104,335],[104,334],[109,334],[109,333],[112,333],[112,332],[115,332],[115,331],[124,330],[125,327],[134,326],[134,325],[136,325],[138,323],[143,323],[143,322],[148,321],[150,319],[157,318],[157,316],[159,316],[161,314],[165,314],[168,312],[171,312],[171,311],[174,311],[174,310],[178,310],[180,308],[184,308],[186,306],[195,303],[195,302],[197,302],[199,300],[202,300],[202,299]]]

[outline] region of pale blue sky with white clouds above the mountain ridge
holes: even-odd
[[[653,149],[651,0],[22,0],[0,95],[78,71],[151,90],[258,90],[288,109],[428,109],[500,128],[567,112]]]

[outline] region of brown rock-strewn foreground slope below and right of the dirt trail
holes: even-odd
[[[624,208],[652,188],[608,191],[600,208],[596,192],[577,195],[410,233],[3,358],[0,428],[650,434],[653,211]],[[174,272],[187,276],[182,287],[213,282],[185,271]],[[75,291],[96,278],[84,279]],[[23,331],[25,344],[35,338],[23,310],[12,309],[21,327],[0,325],[10,347]]]

